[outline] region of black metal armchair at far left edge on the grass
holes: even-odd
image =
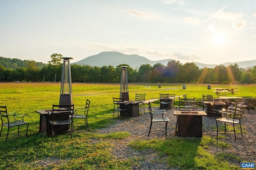
[[[18,136],[20,136],[20,126],[21,125],[27,125],[26,136],[28,137],[28,124],[29,123],[24,121],[25,114],[18,115],[18,112],[8,113],[6,106],[0,106],[0,115],[1,115],[1,120],[2,120],[0,137],[2,134],[3,126],[8,128],[5,140],[7,140],[7,138],[8,138],[9,129],[11,127],[18,127]]]

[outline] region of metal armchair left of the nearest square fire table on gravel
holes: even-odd
[[[168,117],[164,117],[165,114],[165,110],[159,110],[159,111],[154,111],[153,109],[151,109],[151,105],[150,102],[148,102],[148,109],[149,109],[149,113],[150,113],[150,117],[151,117],[151,121],[150,121],[150,128],[149,128],[149,132],[148,132],[148,136],[150,134],[150,130],[152,127],[152,123],[159,123],[159,122],[165,122],[165,136],[167,135],[167,124],[169,122]],[[160,115],[160,116],[159,116]],[[157,117],[158,116],[158,117]],[[160,117],[160,118],[159,118]]]

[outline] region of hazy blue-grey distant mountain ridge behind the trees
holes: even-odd
[[[161,63],[163,65],[167,65],[168,61],[173,59],[163,59],[158,61],[151,61],[147,59],[146,57],[142,57],[137,54],[127,55],[115,51],[104,51],[101,53],[98,53],[97,55],[91,55],[89,57],[86,57],[85,59],[82,59],[80,61],[77,61],[72,64],[78,64],[78,65],[90,65],[90,66],[108,66],[112,65],[113,67],[116,67],[120,64],[128,64],[132,68],[139,68],[140,65],[143,64],[150,64],[153,66],[156,63]],[[199,68],[208,67],[208,68],[214,68],[217,64],[203,64],[194,62]],[[230,64],[234,65],[237,63],[239,67],[242,67],[244,69],[253,68],[256,65],[256,60],[252,61],[240,61],[240,62],[234,62],[234,63],[220,63],[224,66],[228,66]],[[218,65],[220,65],[218,64]]]

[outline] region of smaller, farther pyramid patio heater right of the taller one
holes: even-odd
[[[120,67],[122,68],[122,74],[121,74],[121,86],[120,86],[119,98],[124,98],[124,101],[129,101],[127,67],[128,66]]]

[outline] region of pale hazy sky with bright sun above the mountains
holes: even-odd
[[[256,0],[0,0],[0,56],[71,63],[103,51],[152,61],[256,59]]]

